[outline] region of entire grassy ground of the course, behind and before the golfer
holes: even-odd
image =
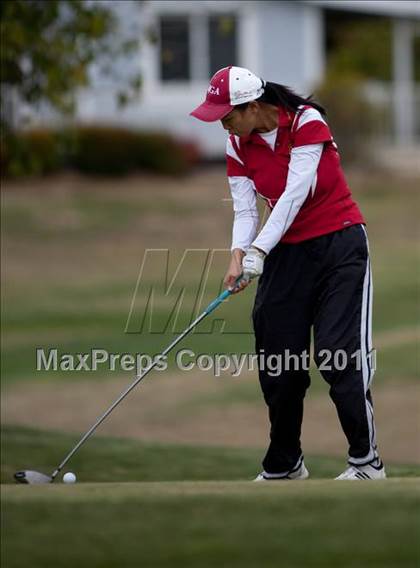
[[[376,178],[370,171],[353,177],[350,185],[368,220],[374,269],[374,388],[379,393],[389,386],[387,398],[375,399],[379,418],[390,409],[378,429],[387,442],[381,447],[401,448],[396,459],[402,462],[418,461],[413,443],[418,429],[411,427],[416,410],[405,403],[416,398],[419,369],[418,180]],[[60,479],[48,486],[15,485],[17,469],[50,473],[80,431],[119,394],[113,393],[112,381],[125,379],[104,369],[36,371],[36,348],[160,352],[174,339],[174,330],[156,330],[166,330],[179,290],[185,288],[180,330],[190,322],[201,292],[202,307],[220,292],[232,210],[222,168],[181,181],[57,176],[3,189],[2,388],[6,397],[12,389],[22,396],[8,399],[12,403],[2,416],[8,423],[2,433],[2,568],[420,566],[420,466],[389,463],[384,452],[387,481],[333,481],[345,467],[345,456],[330,453],[328,416],[318,413],[319,406],[312,407],[318,409],[312,431],[321,440],[320,453],[330,455],[305,455],[311,479],[250,481],[264,454],[262,447],[251,447],[249,435],[258,418],[249,409],[262,405],[256,374],[255,380],[235,379],[228,372],[221,379],[210,376],[211,385],[195,374],[180,381],[175,375],[171,379],[170,360],[168,374],[156,372],[153,383],[133,393],[131,406],[118,409],[118,416],[125,416],[124,423],[116,422],[121,437],[95,435],[74,456],[67,471],[76,472],[76,485],[65,486]],[[135,294],[147,249],[170,249],[167,274],[172,277],[191,247],[205,258],[208,250],[220,254],[206,270],[198,257],[182,265],[169,296],[163,288],[166,264],[153,256]],[[208,278],[202,283],[203,274]],[[137,329],[129,327],[126,333],[134,298],[132,323],[140,330],[152,285],[158,285],[152,329],[134,333]],[[182,347],[195,353],[252,352],[254,294],[250,288],[231,298]],[[317,373],[312,376],[311,395],[327,398],[326,385]],[[124,384],[131,374],[126,378]],[[86,388],[77,391],[80,385]],[[112,387],[109,399],[105,385]],[[55,414],[51,424],[39,419],[50,414]],[[212,429],[215,424],[221,428]],[[136,427],[147,443],[125,438]],[[206,436],[187,444],[190,432],[200,429]],[[173,441],[168,430],[176,431],[179,444],[167,443]],[[242,441],[230,447],[235,444],[228,435],[239,430],[247,447]],[[206,445],[204,438],[212,442],[217,432],[219,445]],[[264,430],[253,439],[263,445],[265,437]],[[344,449],[344,440],[338,443]]]

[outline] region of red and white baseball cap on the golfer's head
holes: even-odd
[[[215,122],[230,113],[235,105],[258,99],[264,92],[264,81],[244,67],[224,67],[213,75],[206,100],[190,114]]]

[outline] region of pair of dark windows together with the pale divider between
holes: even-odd
[[[238,65],[233,14],[164,15],[159,27],[161,81],[203,80]]]

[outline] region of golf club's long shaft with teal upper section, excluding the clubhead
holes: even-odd
[[[242,279],[242,275],[239,276],[236,279],[235,285],[237,283],[239,283],[241,281],[241,279]],[[225,290],[224,292],[222,292],[220,294],[220,296],[218,296],[215,300],[213,300],[213,302],[210,302],[210,304],[207,306],[207,308],[204,310],[204,312],[201,315],[199,315],[198,318],[196,320],[194,320],[192,322],[192,324],[189,325],[187,327],[187,329],[181,333],[181,335],[178,335],[178,337],[176,339],[174,339],[174,341],[170,345],[168,345],[168,347],[164,351],[162,351],[162,353],[159,356],[157,356],[155,358],[153,363],[151,365],[149,365],[149,367],[147,367],[147,369],[145,369],[143,373],[141,373],[138,377],[136,377],[136,380],[133,383],[131,383],[131,385],[129,385],[125,389],[125,391],[121,393],[121,395],[117,398],[117,400],[97,419],[95,424],[93,424],[93,426],[91,428],[89,428],[89,430],[86,432],[86,434],[84,434],[83,437],[80,438],[80,440],[77,442],[77,444],[74,446],[74,448],[67,454],[67,456],[63,459],[63,461],[57,467],[57,469],[54,470],[54,472],[51,475],[52,481],[54,481],[56,476],[60,473],[60,471],[63,469],[63,467],[69,461],[69,459],[73,456],[73,454],[75,454],[77,452],[77,450],[80,448],[80,446],[82,446],[86,442],[86,440],[88,438],[90,438],[90,436],[94,433],[96,428],[100,424],[102,424],[102,422],[105,420],[105,418],[107,416],[109,416],[111,414],[111,412],[114,410],[114,408],[116,406],[118,406],[120,404],[120,402],[122,400],[124,400],[124,398],[134,389],[134,387],[136,387],[139,384],[139,382],[142,381],[144,379],[144,377],[160,362],[160,359],[162,357],[164,357],[165,355],[167,355],[171,351],[171,349],[173,349],[175,347],[175,345],[177,343],[179,343],[186,335],[188,335],[190,333],[190,331],[197,324],[200,323],[201,320],[203,320],[213,310],[215,310],[224,300],[226,300],[226,298],[228,298],[232,294],[233,290],[234,290],[234,287],[232,289]]]

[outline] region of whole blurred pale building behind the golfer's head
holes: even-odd
[[[189,117],[216,70],[230,64],[248,67],[267,80],[310,94],[328,78],[329,62],[342,48],[341,42],[349,44],[349,26],[380,23],[380,29],[386,30],[380,47],[389,59],[389,74],[381,77],[373,69],[370,76],[359,77],[366,99],[382,110],[372,136],[392,146],[412,147],[420,141],[420,77],[415,64],[419,2],[125,0],[107,4],[117,12],[122,30],[132,22],[142,30],[138,59],[134,54],[118,62],[120,74],[139,67],[141,95],[119,109],[118,84],[95,73],[93,66],[92,84],[78,96],[78,121],[170,131],[198,141],[206,157],[218,157],[223,154],[225,133],[218,124],[205,125]],[[357,34],[353,41],[349,49],[355,51],[355,59],[372,58],[369,49],[357,53],[362,47],[357,45]],[[377,69],[381,65],[378,61]],[[38,114],[40,119],[51,115]]]

